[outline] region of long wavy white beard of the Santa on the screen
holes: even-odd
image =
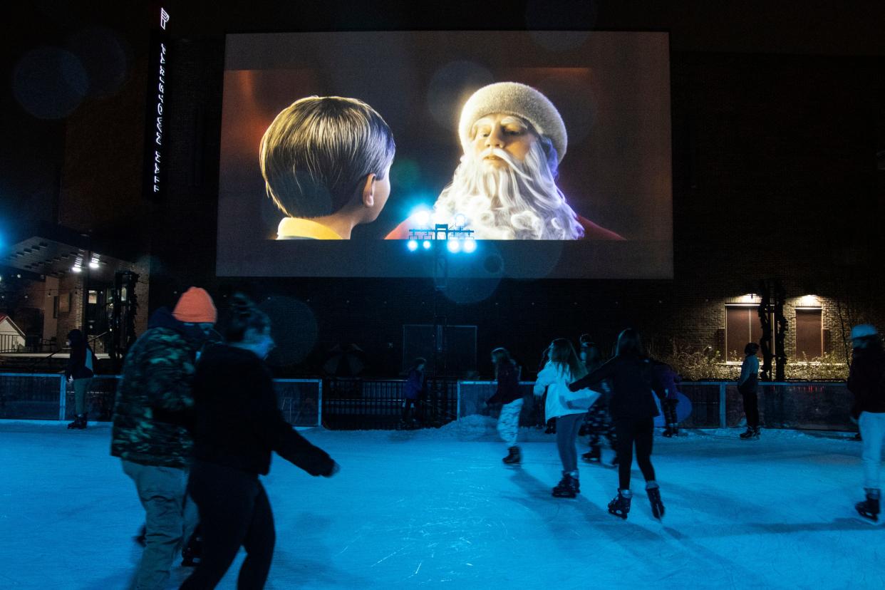
[[[483,162],[487,156],[504,166]],[[454,226],[460,213],[478,240],[578,240],[584,228],[556,186],[539,142],[524,162],[503,149],[461,157],[454,176],[434,205],[435,223]]]

